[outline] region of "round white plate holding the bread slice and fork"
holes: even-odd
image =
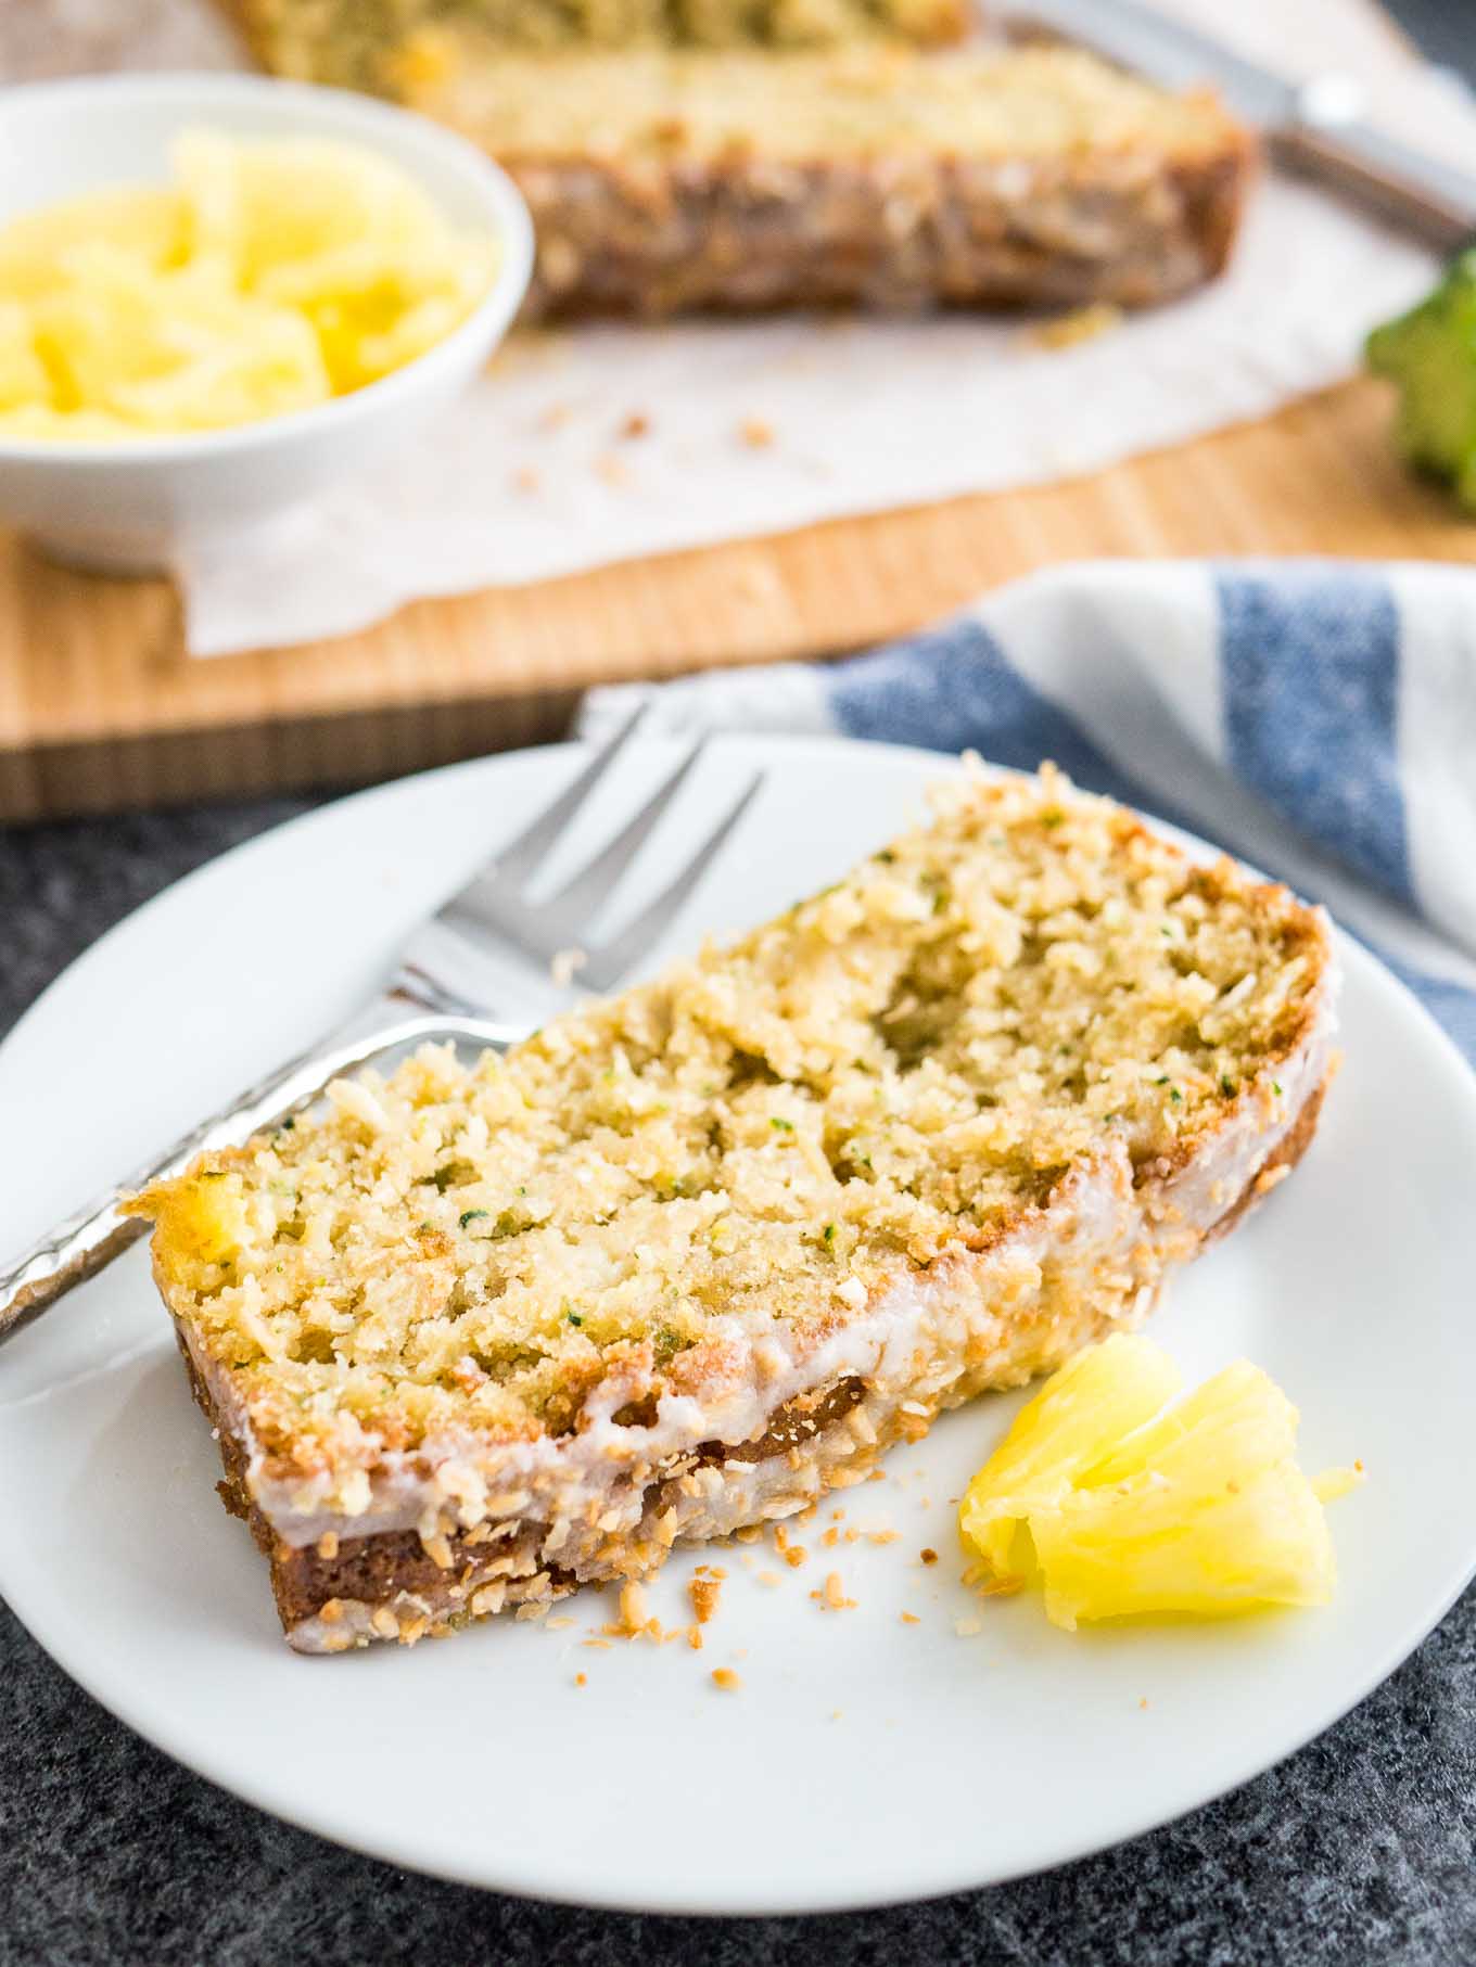
[[[677,838],[756,755],[768,789],[675,942],[823,885],[947,769],[734,740],[689,789]],[[327,806],[96,944],[0,1048],[0,1241],[30,1239],[348,1009],[400,930],[567,771],[565,751],[522,753]],[[628,779],[614,803],[632,795]],[[0,1587],[67,1672],[191,1768],[346,1845],[502,1890],[864,1906],[1163,1823],[1326,1727],[1476,1562],[1476,1082],[1370,956],[1342,952],[1348,1066],[1315,1151],[1153,1326],[1195,1379],[1242,1351],[1265,1365],[1301,1404],[1309,1467],[1362,1456],[1368,1483],[1336,1505],[1328,1611],[1069,1637],[1033,1597],[980,1603],[958,1583],[949,1499],[1017,1404],[990,1399],[840,1497],[844,1526],[890,1522],[899,1542],[825,1550],[827,1511],[795,1532],[799,1570],[766,1544],[720,1554],[703,1652],[588,1650],[614,1611],[583,1593],[565,1631],[492,1621],[409,1652],[299,1658],[213,1493],[215,1444],[142,1251],[0,1355]],[[667,1623],[691,1562],[649,1593]],[[829,1570],[854,1611],[813,1603]],[[958,1637],[958,1619],[982,1631]],[[714,1666],[742,1688],[718,1692]]]

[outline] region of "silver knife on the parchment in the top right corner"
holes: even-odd
[[[1289,83],[1141,0],[1004,0],[1000,16],[1012,28],[1049,28],[1171,87],[1214,83],[1261,132],[1275,163],[1358,199],[1437,252],[1476,240],[1476,173],[1376,130],[1352,75]]]

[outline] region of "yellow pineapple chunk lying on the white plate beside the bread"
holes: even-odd
[[[1238,1359],[1177,1404],[1151,1340],[1078,1353],[1019,1412],[958,1511],[992,1591],[1039,1570],[1047,1617],[1228,1617],[1326,1605],[1336,1581],[1322,1505],[1358,1473],[1309,1481],[1297,1410]]]

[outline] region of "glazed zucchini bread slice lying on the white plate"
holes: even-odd
[[[1138,1324],[1297,1161],[1326,921],[1039,779],[140,1196],[293,1646],[638,1578]]]

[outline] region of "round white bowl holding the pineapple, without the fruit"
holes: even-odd
[[[254,75],[110,75],[0,90],[0,226],[104,185],[163,183],[169,146],[191,124],[372,148],[451,220],[496,234],[498,275],[435,348],[313,409],[124,443],[0,435],[0,517],[85,566],[167,568],[185,539],[283,511],[409,443],[482,368],[533,269],[527,207],[474,146],[386,102]]]

